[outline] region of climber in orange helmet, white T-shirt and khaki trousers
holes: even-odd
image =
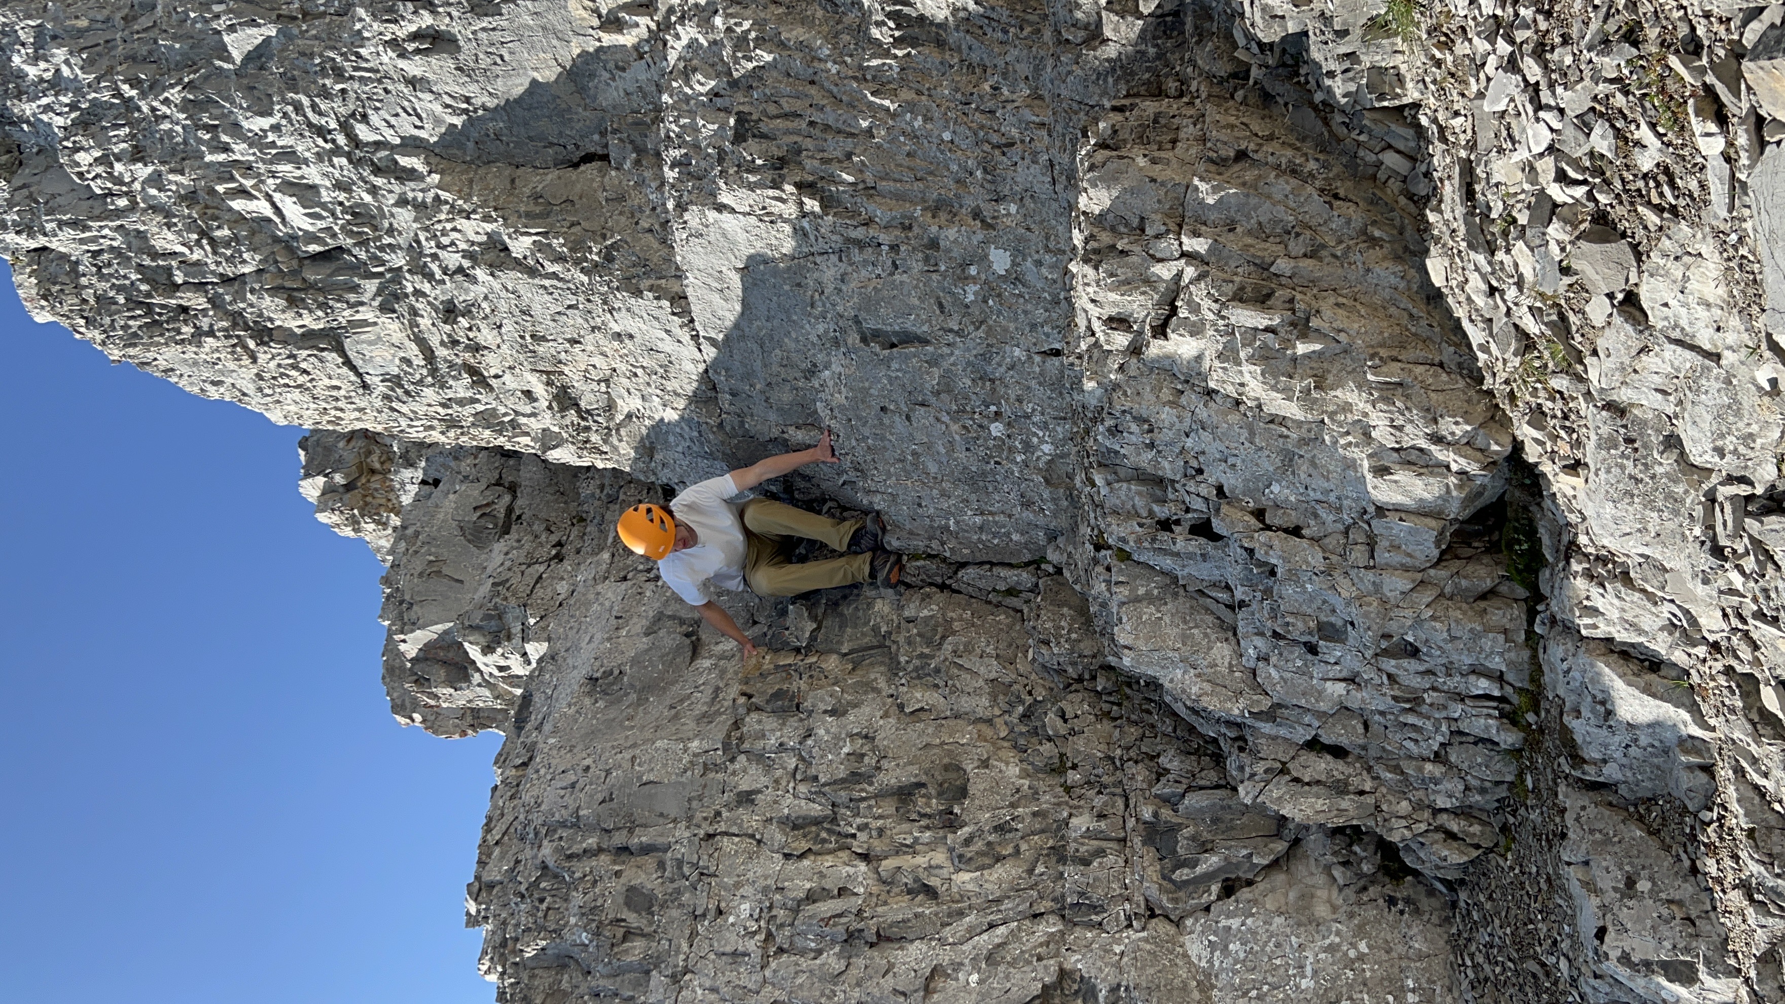
[[[878,513],[864,520],[830,520],[773,498],[750,498],[737,506],[726,502],[810,463],[837,463],[828,429],[810,450],[780,454],[702,481],[671,498],[669,506],[627,509],[619,516],[619,540],[635,554],[657,561],[659,573],[678,597],[743,645],[746,657],[755,656],[757,647],[714,602],[712,586],[743,590],[748,584],[764,597],[794,597],[869,579],[896,586],[903,570],[898,554],[880,548],[885,523]],[[794,565],[789,554],[798,538],[826,543],[846,557]]]

